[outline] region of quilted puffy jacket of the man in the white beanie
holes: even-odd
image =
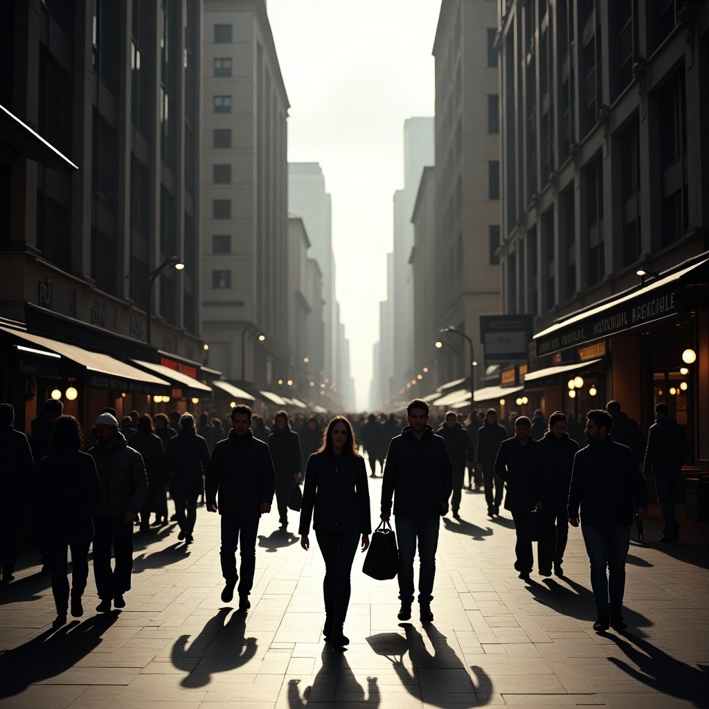
[[[128,446],[120,431],[112,448],[96,444],[86,452],[96,463],[101,485],[91,514],[94,517],[123,517],[126,511],[138,514],[147,495],[147,474],[140,453]]]

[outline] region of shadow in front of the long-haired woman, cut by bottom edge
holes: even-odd
[[[354,676],[344,652],[325,644],[320,658],[322,661],[320,669],[313,679],[313,683],[303,689],[302,696],[301,680],[290,679],[288,681],[289,709],[302,709],[310,703],[320,702],[328,705],[343,702],[364,709],[379,707],[381,696],[376,677],[367,677],[367,693],[365,695],[364,687]]]

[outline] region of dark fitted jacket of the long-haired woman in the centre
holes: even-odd
[[[347,453],[313,453],[308,458],[298,534],[307,535],[311,517],[318,532],[372,533],[364,458]]]

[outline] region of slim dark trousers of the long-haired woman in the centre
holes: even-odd
[[[359,532],[315,532],[318,547],[325,559],[325,579],[323,579],[323,596],[325,597],[325,613],[333,620],[333,625],[339,627],[345,623],[347,608],[350,605],[350,573],[354,554],[359,546]]]

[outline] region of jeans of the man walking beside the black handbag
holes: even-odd
[[[418,602],[433,600],[436,575],[436,549],[440,517],[401,517],[396,515],[396,541],[399,547],[398,583],[401,603],[413,603],[413,557],[418,542]]]

